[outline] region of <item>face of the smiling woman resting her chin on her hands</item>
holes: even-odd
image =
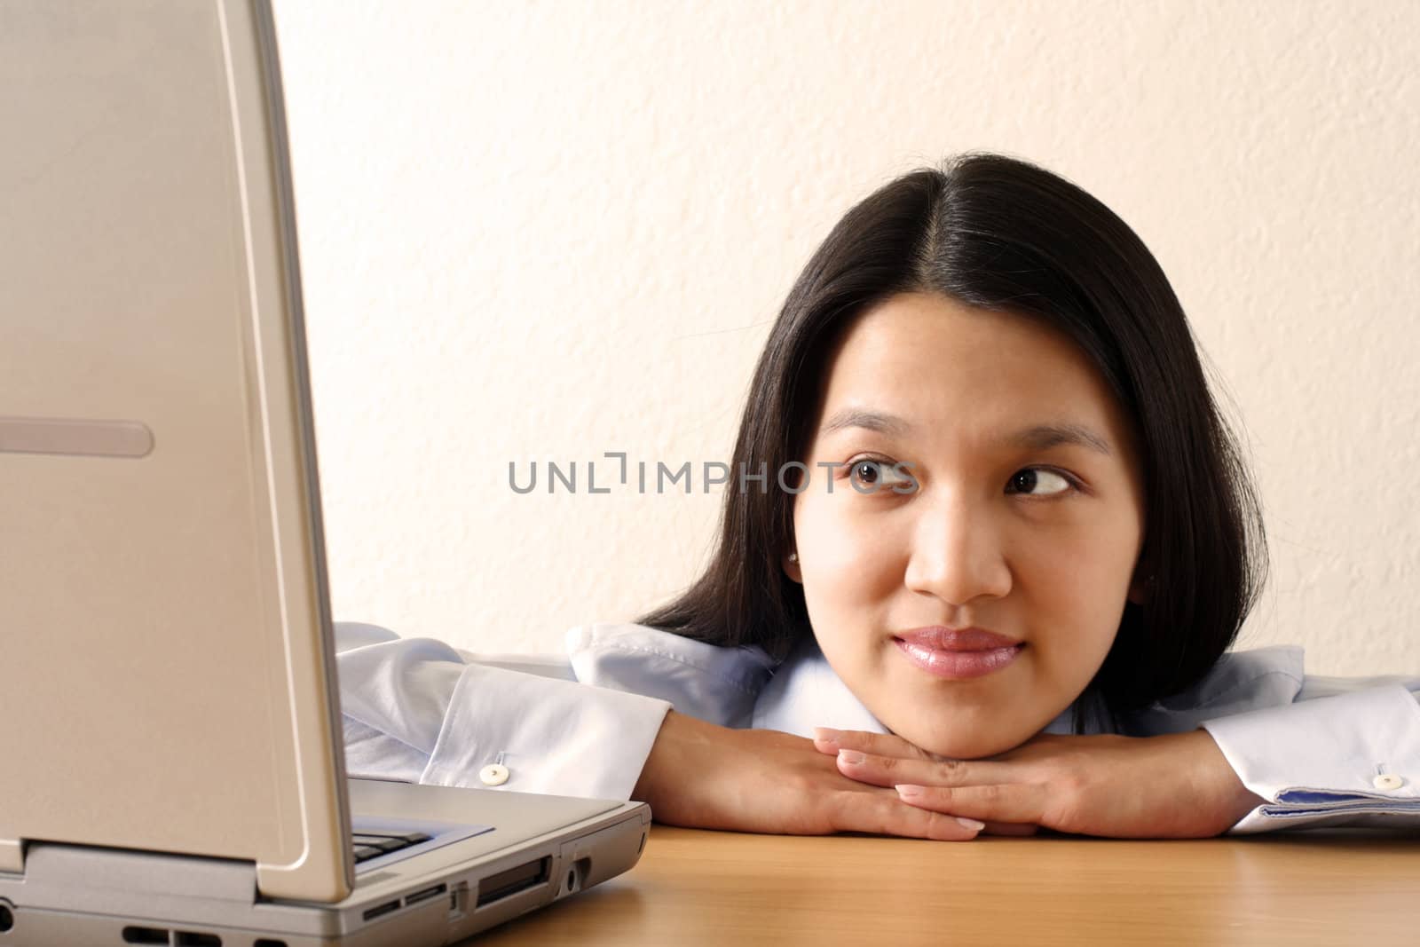
[[[980,758],[1030,740],[1142,598],[1129,425],[1041,322],[936,294],[868,311],[831,356],[805,463],[785,571],[838,676],[924,750]],[[951,653],[968,628],[1021,646]]]

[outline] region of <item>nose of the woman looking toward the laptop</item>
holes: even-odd
[[[1011,568],[988,511],[964,498],[943,498],[919,511],[905,576],[909,589],[949,605],[1011,591]]]

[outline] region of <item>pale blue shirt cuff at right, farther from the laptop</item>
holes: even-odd
[[[1228,835],[1329,825],[1420,828],[1420,703],[1402,686],[1200,724],[1267,804]]]

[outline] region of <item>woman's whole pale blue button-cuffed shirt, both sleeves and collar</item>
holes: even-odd
[[[775,667],[758,647],[643,625],[574,628],[567,659],[471,655],[354,622],[337,622],[335,637],[351,775],[626,799],[672,707],[804,737],[888,733],[812,639]],[[1071,710],[1045,733],[1068,734]],[[1420,828],[1420,677],[1304,674],[1301,647],[1260,647],[1224,655],[1196,687],[1119,720],[1135,737],[1198,727],[1268,799],[1231,835]]]

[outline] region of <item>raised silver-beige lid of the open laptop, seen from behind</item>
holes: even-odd
[[[264,1],[0,1],[0,870],[354,882]]]

